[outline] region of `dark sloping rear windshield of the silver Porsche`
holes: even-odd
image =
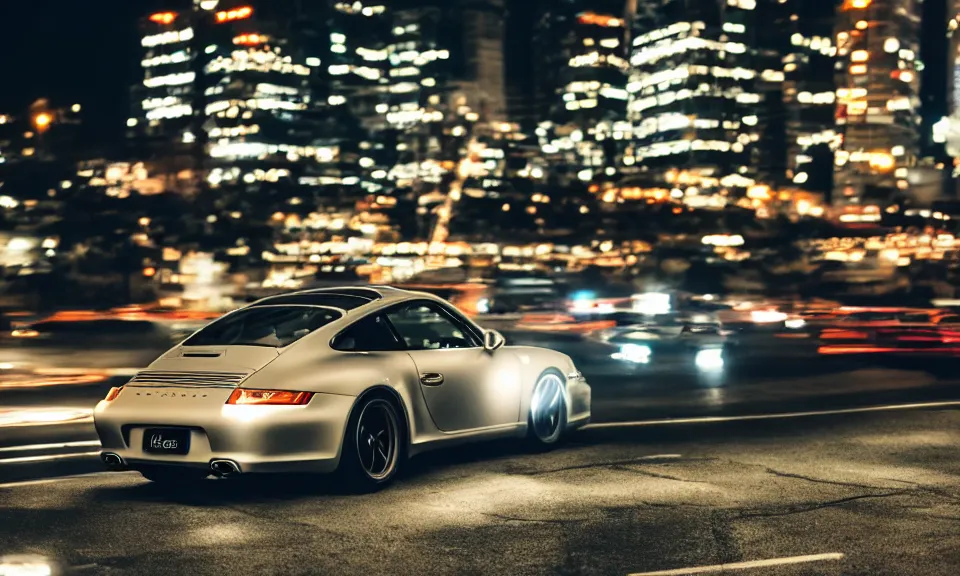
[[[283,348],[340,318],[314,306],[257,306],[238,310],[197,332],[184,346],[267,346]]]

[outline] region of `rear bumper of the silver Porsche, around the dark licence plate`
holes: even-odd
[[[171,465],[209,468],[229,460],[242,473],[330,472],[340,459],[352,396],[316,394],[305,406],[225,404],[230,389],[127,387],[101,402],[94,423],[103,453],[125,468]],[[206,396],[195,396],[206,394]],[[188,429],[187,454],[143,449],[150,428]]]

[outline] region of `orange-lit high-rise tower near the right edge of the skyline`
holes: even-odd
[[[920,2],[844,0],[837,13],[834,201],[884,202],[909,188],[920,132]]]

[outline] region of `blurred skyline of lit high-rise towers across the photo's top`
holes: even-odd
[[[925,4],[928,21],[937,2]],[[526,11],[503,0],[154,5],[119,28],[135,31],[135,49],[122,51],[139,54],[135,73],[118,66],[99,89],[126,81],[123,93],[88,104],[51,89],[26,116],[0,110],[19,123],[5,129],[0,161],[49,156],[69,120],[79,127],[71,155],[148,160],[173,190],[220,190],[221,219],[262,221],[260,212],[288,203],[382,210],[386,200],[364,195],[410,189],[419,235],[446,230],[453,205],[483,216],[496,208],[484,202],[511,195],[542,228],[552,207],[537,204],[556,187],[581,214],[590,209],[573,200],[577,186],[608,211],[666,197],[759,209],[781,189],[851,205],[901,194],[929,201],[946,189],[942,154],[923,146],[946,86],[921,82],[943,80],[946,58],[921,63],[916,0],[816,10],[772,0],[562,0]],[[116,24],[131,11],[110,17]],[[946,41],[927,42],[928,52]],[[86,57],[91,70],[80,74],[91,77],[109,63]],[[34,68],[53,85],[53,70]],[[97,82],[71,86],[96,89],[89,84]],[[921,109],[925,101],[933,103]],[[39,124],[41,113],[51,125]],[[21,132],[11,140],[11,130]],[[459,202],[461,189],[474,192]]]

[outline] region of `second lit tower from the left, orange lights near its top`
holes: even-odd
[[[290,184],[341,184],[346,134],[334,119],[345,101],[330,94],[321,66],[331,43],[322,3],[220,4],[203,32],[208,182],[265,198],[295,194]]]

